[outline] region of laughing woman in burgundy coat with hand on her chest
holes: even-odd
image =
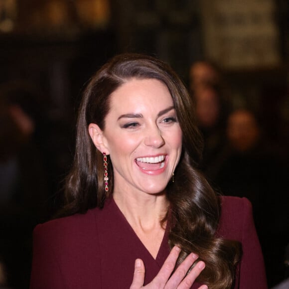
[[[266,288],[250,203],[216,196],[197,170],[191,107],[155,58],[119,55],[96,73],[79,110],[69,216],[34,230],[31,289]]]

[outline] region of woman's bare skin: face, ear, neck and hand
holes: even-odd
[[[167,87],[155,79],[127,81],[111,95],[104,130],[90,124],[89,133],[96,147],[110,155],[116,204],[156,258],[164,235],[160,219],[169,205],[164,189],[182,147],[182,132]],[[171,251],[154,281],[145,288],[190,288],[182,280],[196,255],[188,257],[170,277],[178,254],[178,248]],[[196,267],[184,279],[185,284],[192,284],[201,272]],[[144,272],[144,264],[138,259],[132,289],[143,288]]]

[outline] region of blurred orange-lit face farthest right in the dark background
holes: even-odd
[[[238,151],[245,152],[253,148],[260,137],[260,129],[255,116],[246,110],[232,113],[228,118],[227,137]]]

